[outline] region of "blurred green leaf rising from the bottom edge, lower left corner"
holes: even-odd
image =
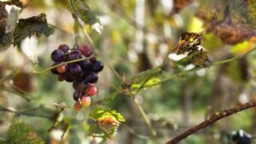
[[[30,124],[18,123],[9,128],[7,141],[9,144],[44,144]]]

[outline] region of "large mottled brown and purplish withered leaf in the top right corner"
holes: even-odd
[[[198,0],[196,16],[204,20],[207,32],[213,32],[223,43],[234,45],[256,35],[255,0]]]

